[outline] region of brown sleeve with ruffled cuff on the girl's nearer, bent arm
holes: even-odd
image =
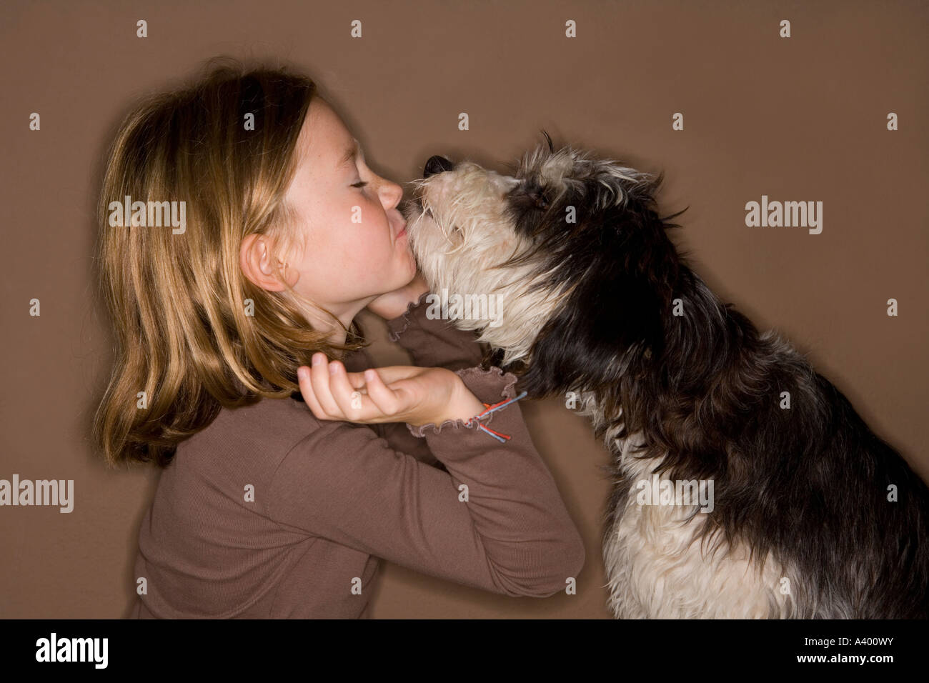
[[[457,372],[479,401],[514,398],[513,374]],[[581,536],[517,401],[480,419],[407,425],[447,472],[391,449],[371,429],[317,422],[270,484],[266,512],[282,528],[509,596],[554,595],[581,571]],[[480,424],[510,439],[501,443]]]

